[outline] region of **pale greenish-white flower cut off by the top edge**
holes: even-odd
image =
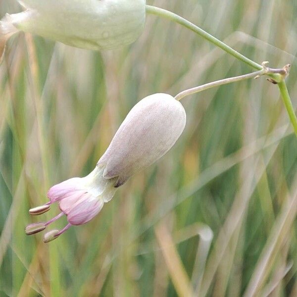
[[[133,43],[146,19],[145,0],[18,0],[26,8],[0,21],[0,57],[8,38],[30,32],[82,49]]]

